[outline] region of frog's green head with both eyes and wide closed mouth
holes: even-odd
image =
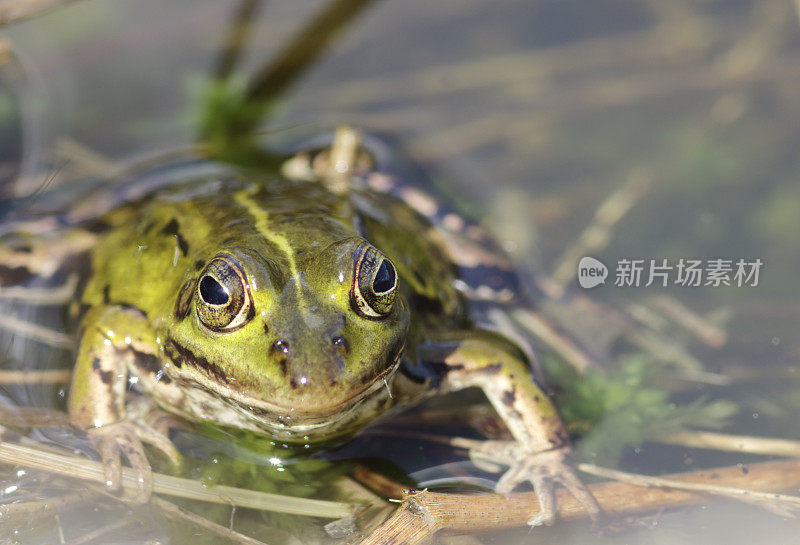
[[[279,427],[324,423],[386,388],[409,313],[380,250],[346,237],[279,259],[210,255],[175,302],[168,376]]]

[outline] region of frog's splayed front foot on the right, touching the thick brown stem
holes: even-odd
[[[593,521],[600,518],[597,500],[578,477],[570,461],[568,446],[541,452],[522,449],[516,441],[482,441],[469,449],[470,459],[479,468],[496,470],[495,464],[509,466],[495,485],[499,494],[509,494],[524,482],[530,482],[539,498],[541,511],[528,524],[553,524],[556,516],[555,484],[562,484],[588,511]]]

